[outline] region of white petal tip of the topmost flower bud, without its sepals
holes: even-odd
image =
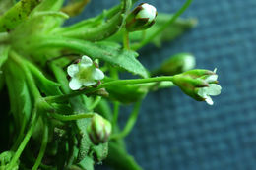
[[[147,3],[143,3],[141,5],[142,10],[136,15],[136,19],[145,19],[148,18],[148,22],[151,23],[153,20],[155,20],[157,16],[157,9]]]

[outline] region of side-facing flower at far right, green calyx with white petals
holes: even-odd
[[[214,72],[196,69],[173,76],[172,82],[192,98],[213,105],[210,95],[219,95],[222,90],[222,87],[217,85],[217,79],[216,69]]]

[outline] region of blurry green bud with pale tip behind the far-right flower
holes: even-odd
[[[159,75],[176,75],[182,72],[186,72],[195,67],[196,60],[192,54],[179,53],[171,56],[169,59],[164,61],[160,68],[153,72],[153,76]]]

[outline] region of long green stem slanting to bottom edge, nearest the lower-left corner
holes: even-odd
[[[16,164],[16,162],[18,161],[19,157],[21,156],[24,148],[26,147],[27,143],[30,141],[31,137],[32,137],[32,131],[34,129],[35,123],[36,123],[36,112],[37,112],[37,107],[35,106],[33,111],[32,111],[32,121],[31,121],[31,126],[29,131],[27,132],[25,138],[23,139],[23,142],[20,144],[20,146],[18,147],[17,151],[15,152],[12,160],[10,161],[7,170],[12,170],[13,166]]]

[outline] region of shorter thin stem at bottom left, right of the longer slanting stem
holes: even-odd
[[[44,132],[43,132],[43,137],[42,137],[42,142],[41,142],[41,147],[40,151],[38,154],[38,157],[35,160],[34,165],[32,166],[32,170],[38,169],[39,165],[41,164],[41,160],[43,158],[47,143],[48,143],[48,125],[44,126]]]

